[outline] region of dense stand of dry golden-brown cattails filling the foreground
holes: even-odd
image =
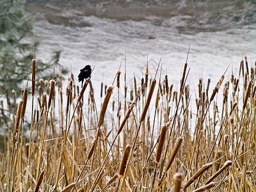
[[[200,78],[195,94],[188,61],[180,84],[172,74],[150,79],[150,63],[140,83],[122,82],[116,68],[118,99],[114,82],[95,94],[93,74],[81,90],[71,74],[65,92],[61,71],[37,79],[35,64],[22,95],[1,100],[0,191],[256,191],[256,65],[247,58],[215,87]]]

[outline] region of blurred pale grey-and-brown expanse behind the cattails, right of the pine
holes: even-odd
[[[92,82],[97,97],[100,83],[111,84],[120,63],[123,89],[125,56],[128,90],[134,76],[140,82],[147,60],[153,78],[160,58],[161,78],[167,74],[169,84],[178,90],[190,44],[187,82],[193,97],[200,77],[205,84],[211,78],[212,90],[229,64],[227,77],[232,71],[238,76],[245,55],[250,67],[255,65],[255,1],[40,2],[28,6],[36,15],[40,40],[36,58],[48,61],[53,49],[61,49],[60,63],[75,77],[80,68],[95,65]],[[114,99],[116,94],[115,89]]]

